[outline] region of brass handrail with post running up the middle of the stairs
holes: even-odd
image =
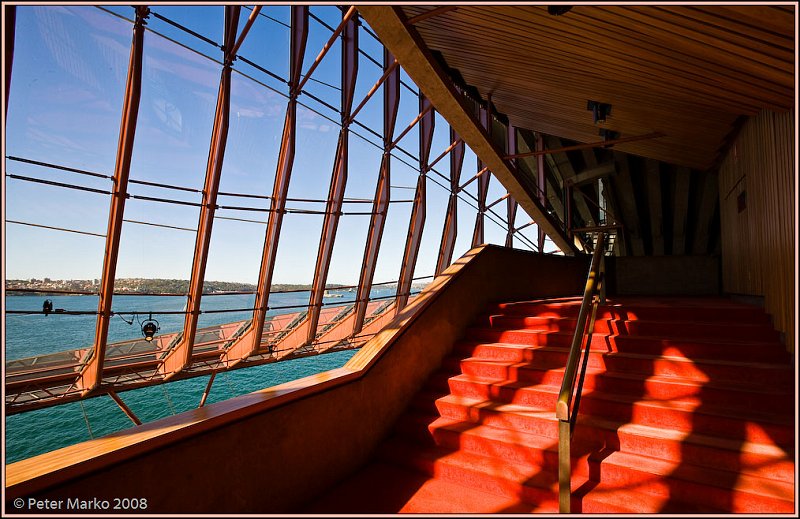
[[[581,345],[583,337],[587,332],[587,318],[589,315],[589,306],[593,307],[592,319],[590,323],[589,333],[591,327],[594,326],[594,316],[597,310],[595,296],[599,292],[601,285],[601,263],[603,259],[603,245],[605,242],[605,232],[600,231],[597,236],[597,244],[592,254],[592,263],[589,267],[589,275],[586,279],[586,287],[583,291],[583,300],[581,301],[581,308],[578,312],[578,322],[575,325],[575,334],[572,337],[572,345],[570,346],[569,356],[567,357],[567,366],[564,370],[564,380],[561,383],[561,391],[558,394],[558,401],[556,402],[556,418],[558,418],[558,509],[561,513],[569,513],[570,511],[570,497],[572,489],[570,488],[571,468],[570,468],[570,442],[572,440],[572,426],[573,420],[571,417],[571,400],[572,393],[575,388],[575,378],[578,373],[578,360],[581,356]],[[586,345],[586,356],[589,355],[589,344]],[[585,369],[585,363],[584,363]],[[580,388],[578,389],[580,393]],[[576,396],[576,409],[577,413],[577,400],[579,395]]]

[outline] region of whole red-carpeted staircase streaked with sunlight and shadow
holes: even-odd
[[[500,304],[368,466],[311,513],[558,511],[555,402],[580,301]],[[794,513],[794,370],[760,309],[619,298],[597,312],[573,513]]]

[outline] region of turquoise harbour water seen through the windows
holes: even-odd
[[[376,289],[372,297],[391,294],[389,289]],[[6,297],[8,310],[41,310],[42,296]],[[65,310],[97,310],[96,296],[48,296],[54,308]],[[339,304],[354,299],[344,293],[342,298],[326,298],[325,303]],[[252,307],[254,296],[214,296],[203,300],[203,310]],[[115,311],[140,311],[139,320],[153,317],[161,325],[160,333],[178,331],[183,315],[158,314],[159,311],[183,309],[182,297],[115,296]],[[308,292],[273,294],[271,306],[305,304]],[[297,310],[274,310],[270,314]],[[129,315],[125,319],[130,321]],[[233,322],[252,317],[252,311],[207,314],[200,316],[199,327]],[[94,315],[6,315],[6,360],[31,357],[90,345],[94,337]],[[109,342],[141,337],[134,318],[132,325],[114,317],[109,326]],[[313,357],[265,364],[231,372],[221,372],[214,380],[207,404],[227,400],[265,387],[296,380],[344,365],[357,350],[326,353]],[[208,376],[170,382],[158,386],[120,393],[128,407],[143,422],[150,422],[194,409],[200,402]],[[132,426],[130,419],[117,407],[111,397],[104,395],[82,402],[62,404],[6,417],[6,463],[66,447],[91,438],[98,438]]]

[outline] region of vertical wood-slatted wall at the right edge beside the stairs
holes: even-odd
[[[795,347],[794,111],[750,118],[720,167],[723,290],[764,297]]]

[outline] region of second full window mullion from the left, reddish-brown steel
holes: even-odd
[[[168,380],[192,363],[194,335],[197,331],[197,319],[200,315],[200,300],[203,294],[208,249],[211,243],[211,230],[214,224],[214,212],[217,206],[219,179],[222,163],[225,158],[225,145],[228,139],[228,119],[231,99],[231,68],[235,56],[231,53],[236,43],[236,31],[239,24],[241,6],[225,6],[225,55],[222,74],[217,93],[217,108],[214,117],[214,128],[211,132],[211,144],[208,151],[206,178],[203,187],[203,202],[200,207],[200,218],[197,225],[192,274],[189,280],[189,294],[186,302],[186,318],[183,323],[183,335],[163,358],[158,373]]]

